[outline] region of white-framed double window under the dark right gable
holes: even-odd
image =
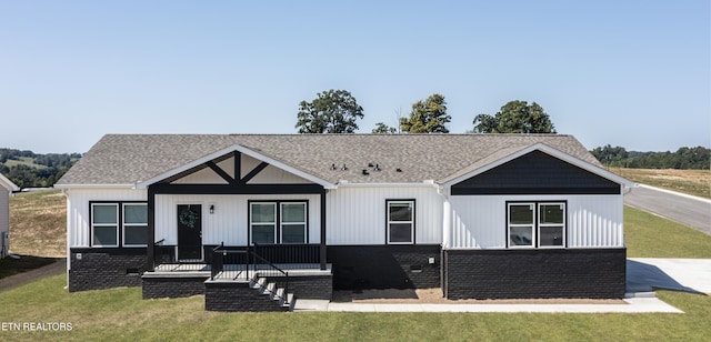
[[[532,223],[531,224],[522,224],[511,223],[511,207],[520,207],[520,205],[532,205]],[[541,223],[540,219],[540,210],[541,205],[562,205],[562,223]],[[565,249],[567,248],[567,230],[568,230],[568,205],[564,201],[531,201],[531,202],[507,202],[507,248],[508,249]],[[521,244],[511,244],[511,228],[515,227],[531,227],[532,225],[532,234],[531,234],[531,244],[530,245],[521,245]],[[561,245],[541,245],[541,227],[562,227],[562,244]]]

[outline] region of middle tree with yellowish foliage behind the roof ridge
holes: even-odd
[[[400,129],[408,133],[449,133],[444,124],[451,120],[444,95],[433,93],[424,101],[412,103],[410,117],[400,118]]]

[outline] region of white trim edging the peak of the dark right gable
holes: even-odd
[[[501,158],[501,159],[499,159],[499,160],[497,160],[494,162],[488,163],[488,164],[485,164],[485,165],[483,165],[483,167],[481,167],[479,169],[475,169],[475,170],[473,170],[471,172],[462,174],[462,175],[460,175],[460,177],[458,177],[458,178],[455,178],[453,180],[450,180],[450,181],[443,183],[442,187],[451,188],[452,185],[454,185],[454,184],[457,184],[459,182],[465,181],[465,180],[468,180],[468,179],[470,179],[472,177],[475,177],[478,174],[487,172],[487,171],[489,171],[489,170],[491,170],[493,168],[502,165],[502,164],[504,164],[507,162],[510,162],[510,161],[512,161],[514,159],[523,157],[523,155],[525,155],[525,154],[528,154],[530,152],[533,152],[533,151],[541,151],[541,152],[543,152],[545,154],[549,154],[549,155],[551,155],[553,158],[560,159],[560,160],[562,160],[562,161],[564,161],[564,162],[567,162],[569,164],[572,164],[572,165],[575,165],[578,168],[581,168],[581,169],[583,169],[583,170],[585,170],[588,172],[591,172],[593,174],[597,174],[599,177],[602,177],[604,179],[613,181],[613,182],[615,182],[618,184],[622,184],[622,185],[624,185],[627,188],[637,188],[638,187],[637,183],[631,182],[631,181],[629,181],[629,180],[627,180],[624,178],[621,178],[621,177],[619,177],[619,175],[617,175],[617,174],[614,174],[614,173],[612,173],[612,172],[610,172],[608,170],[598,168],[598,167],[595,167],[595,165],[593,165],[593,164],[591,164],[589,162],[584,162],[584,161],[582,161],[582,160],[580,160],[578,158],[574,158],[574,157],[572,157],[572,155],[570,155],[568,153],[563,153],[563,152],[561,152],[559,150],[555,150],[555,149],[553,149],[553,148],[551,148],[551,147],[549,147],[549,145],[547,145],[544,143],[540,143],[540,142],[535,143],[535,144],[532,144],[532,145],[530,145],[530,147],[528,147],[525,149],[521,149],[521,150],[519,150],[517,152],[513,152],[513,153],[511,153],[511,154],[509,154],[509,155],[507,155],[504,158]]]

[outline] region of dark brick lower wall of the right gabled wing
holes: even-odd
[[[445,250],[448,299],[621,299],[627,249]]]

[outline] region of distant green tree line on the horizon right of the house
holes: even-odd
[[[594,148],[590,152],[607,167],[692,170],[709,170],[711,168],[711,149],[703,147],[680,148],[677,152],[638,152],[607,144]]]

